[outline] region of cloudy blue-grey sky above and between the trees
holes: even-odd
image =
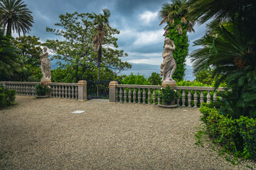
[[[163,52],[164,24],[159,26],[161,19],[158,12],[166,0],[23,0],[33,13],[33,28],[29,35],[36,35],[41,41],[58,38],[46,32],[46,27],[55,28],[58,16],[63,13],[102,13],[102,8],[111,11],[110,26],[120,30],[117,35],[119,49],[128,53],[123,60],[132,63],[160,65]],[[193,40],[201,38],[205,26],[196,26],[196,33],[189,33],[189,52]],[[191,65],[189,59],[186,64]]]

